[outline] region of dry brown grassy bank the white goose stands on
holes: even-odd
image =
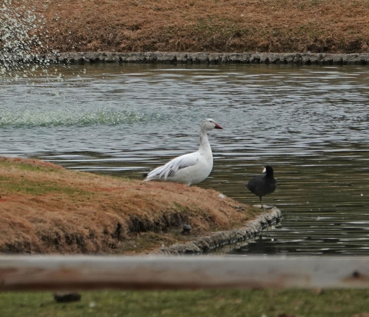
[[[0,252],[10,253],[143,252],[239,227],[261,212],[214,190],[19,158],[0,158],[0,195]],[[183,223],[193,235],[180,234]]]

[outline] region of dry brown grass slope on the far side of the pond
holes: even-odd
[[[20,3],[23,0],[18,0]],[[368,0],[27,0],[68,51],[368,52]]]

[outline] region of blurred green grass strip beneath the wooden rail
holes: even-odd
[[[56,303],[51,292],[2,292],[2,316],[306,316],[368,313],[369,290],[90,291]],[[365,315],[366,316],[366,315]]]

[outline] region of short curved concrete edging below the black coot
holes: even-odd
[[[268,212],[264,212],[256,219],[246,222],[242,228],[215,232],[183,244],[176,243],[169,247],[160,248],[154,254],[181,255],[208,252],[224,245],[236,244],[254,238],[263,229],[277,224],[282,218],[282,212],[276,207],[272,207]]]

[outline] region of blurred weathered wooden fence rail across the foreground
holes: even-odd
[[[0,290],[368,286],[362,256],[0,256]]]

